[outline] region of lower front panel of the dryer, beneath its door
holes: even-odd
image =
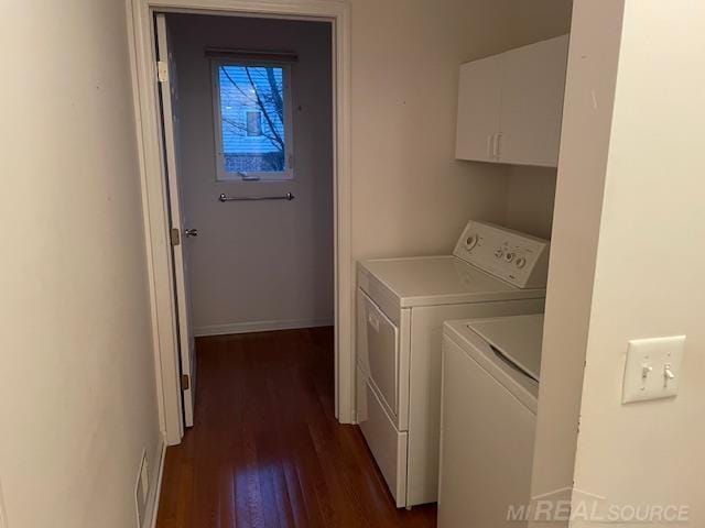
[[[408,437],[397,430],[360,369],[357,371],[357,419],[397,507],[405,506]]]

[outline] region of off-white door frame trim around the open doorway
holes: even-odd
[[[348,0],[126,0],[160,429],[169,446],[184,435],[173,289],[169,197],[162,148],[154,12],[319,20],[333,38],[335,416],[352,422],[354,270],[350,193],[350,6]]]

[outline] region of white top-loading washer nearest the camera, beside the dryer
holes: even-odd
[[[445,323],[438,528],[527,526],[542,332],[541,315]]]

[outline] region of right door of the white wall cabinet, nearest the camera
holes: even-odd
[[[563,35],[502,55],[502,163],[557,166],[567,50]]]

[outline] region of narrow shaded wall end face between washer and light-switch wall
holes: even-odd
[[[573,485],[620,32],[620,2],[574,2],[532,495]]]

